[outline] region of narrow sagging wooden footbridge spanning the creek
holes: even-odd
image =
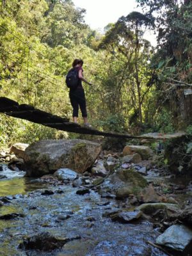
[[[131,134],[120,134],[117,132],[102,132],[92,127],[82,127],[79,124],[69,122],[66,117],[60,117],[47,113],[40,109],[36,109],[28,104],[19,104],[15,100],[8,99],[6,97],[0,97],[0,113],[4,113],[8,116],[15,118],[22,118],[36,124],[42,124],[51,128],[55,128],[61,131],[75,132],[80,134],[92,134],[106,137],[115,138],[138,138],[138,139],[150,139],[150,140],[164,140],[169,138],[180,138],[185,135],[184,132],[177,132],[174,134],[160,134],[158,132],[143,134],[141,136],[134,136]]]

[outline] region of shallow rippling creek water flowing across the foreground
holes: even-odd
[[[6,172],[10,171],[4,169],[3,174]],[[118,201],[101,198],[93,190],[86,195],[77,195],[77,188],[70,184],[53,186],[21,177],[23,174],[20,173],[19,177],[10,174],[8,179],[0,180],[0,195],[8,199],[0,206],[0,216],[14,212],[23,214],[14,219],[0,220],[0,255],[166,255],[147,243],[154,243],[160,234],[149,221],[123,224],[102,216],[118,207]],[[54,194],[42,195],[45,189]],[[76,239],[51,252],[19,249],[24,237],[41,232]]]

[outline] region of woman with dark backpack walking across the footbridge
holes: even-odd
[[[79,116],[79,107],[80,107],[83,120],[84,120],[84,126],[91,127],[91,125],[88,123],[88,118],[87,118],[86,99],[84,96],[82,81],[89,85],[92,85],[92,83],[89,83],[88,81],[86,81],[86,79],[84,79],[82,67],[83,67],[83,60],[75,59],[72,63],[72,69],[67,74],[67,79],[70,80],[70,77],[74,76],[74,78],[72,79],[74,80],[77,79],[77,81],[75,82],[74,86],[68,86],[67,79],[66,79],[66,83],[67,83],[67,86],[70,88],[69,97],[70,97],[70,103],[73,108],[73,115],[72,115],[73,121],[77,123],[77,118]]]

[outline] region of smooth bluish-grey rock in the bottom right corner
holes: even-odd
[[[184,225],[172,225],[157,237],[156,243],[191,255],[188,252],[192,252],[192,230]]]

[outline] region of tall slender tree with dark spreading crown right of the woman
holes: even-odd
[[[145,70],[147,59],[143,58],[142,52],[147,53],[149,58],[150,44],[143,40],[143,33],[147,26],[152,25],[146,15],[138,12],[132,12],[127,17],[121,17],[114,26],[112,26],[106,33],[102,45],[110,52],[118,52],[116,58],[122,56],[122,63],[124,68],[121,68],[120,84],[118,88],[122,89],[124,84],[129,83],[129,88],[132,93],[132,100],[134,107],[138,109],[140,123],[143,121],[142,116],[142,102],[149,88],[143,91],[143,76],[142,72]],[[145,65],[144,65],[145,63]],[[119,92],[120,92],[119,90]]]

